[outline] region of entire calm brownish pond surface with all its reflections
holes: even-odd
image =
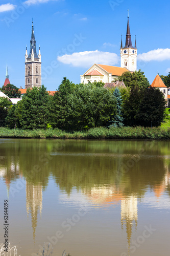
[[[169,141],[1,139],[0,177],[18,255],[169,255]]]

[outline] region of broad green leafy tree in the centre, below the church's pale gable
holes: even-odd
[[[116,114],[116,99],[113,94],[92,83],[76,88],[67,99],[67,129],[84,130],[104,126]]]

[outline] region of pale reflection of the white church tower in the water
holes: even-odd
[[[129,247],[131,243],[133,221],[135,221],[135,224],[137,226],[137,197],[132,195],[130,197],[122,199],[121,202],[122,228],[125,224]]]

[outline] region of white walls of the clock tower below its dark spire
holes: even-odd
[[[131,72],[137,70],[137,49],[120,48],[120,67]]]

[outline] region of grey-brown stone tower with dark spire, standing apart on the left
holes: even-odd
[[[30,54],[28,55],[26,47],[25,64],[25,88],[41,87],[41,52],[39,47],[39,53],[37,55],[33,22],[30,41]]]

